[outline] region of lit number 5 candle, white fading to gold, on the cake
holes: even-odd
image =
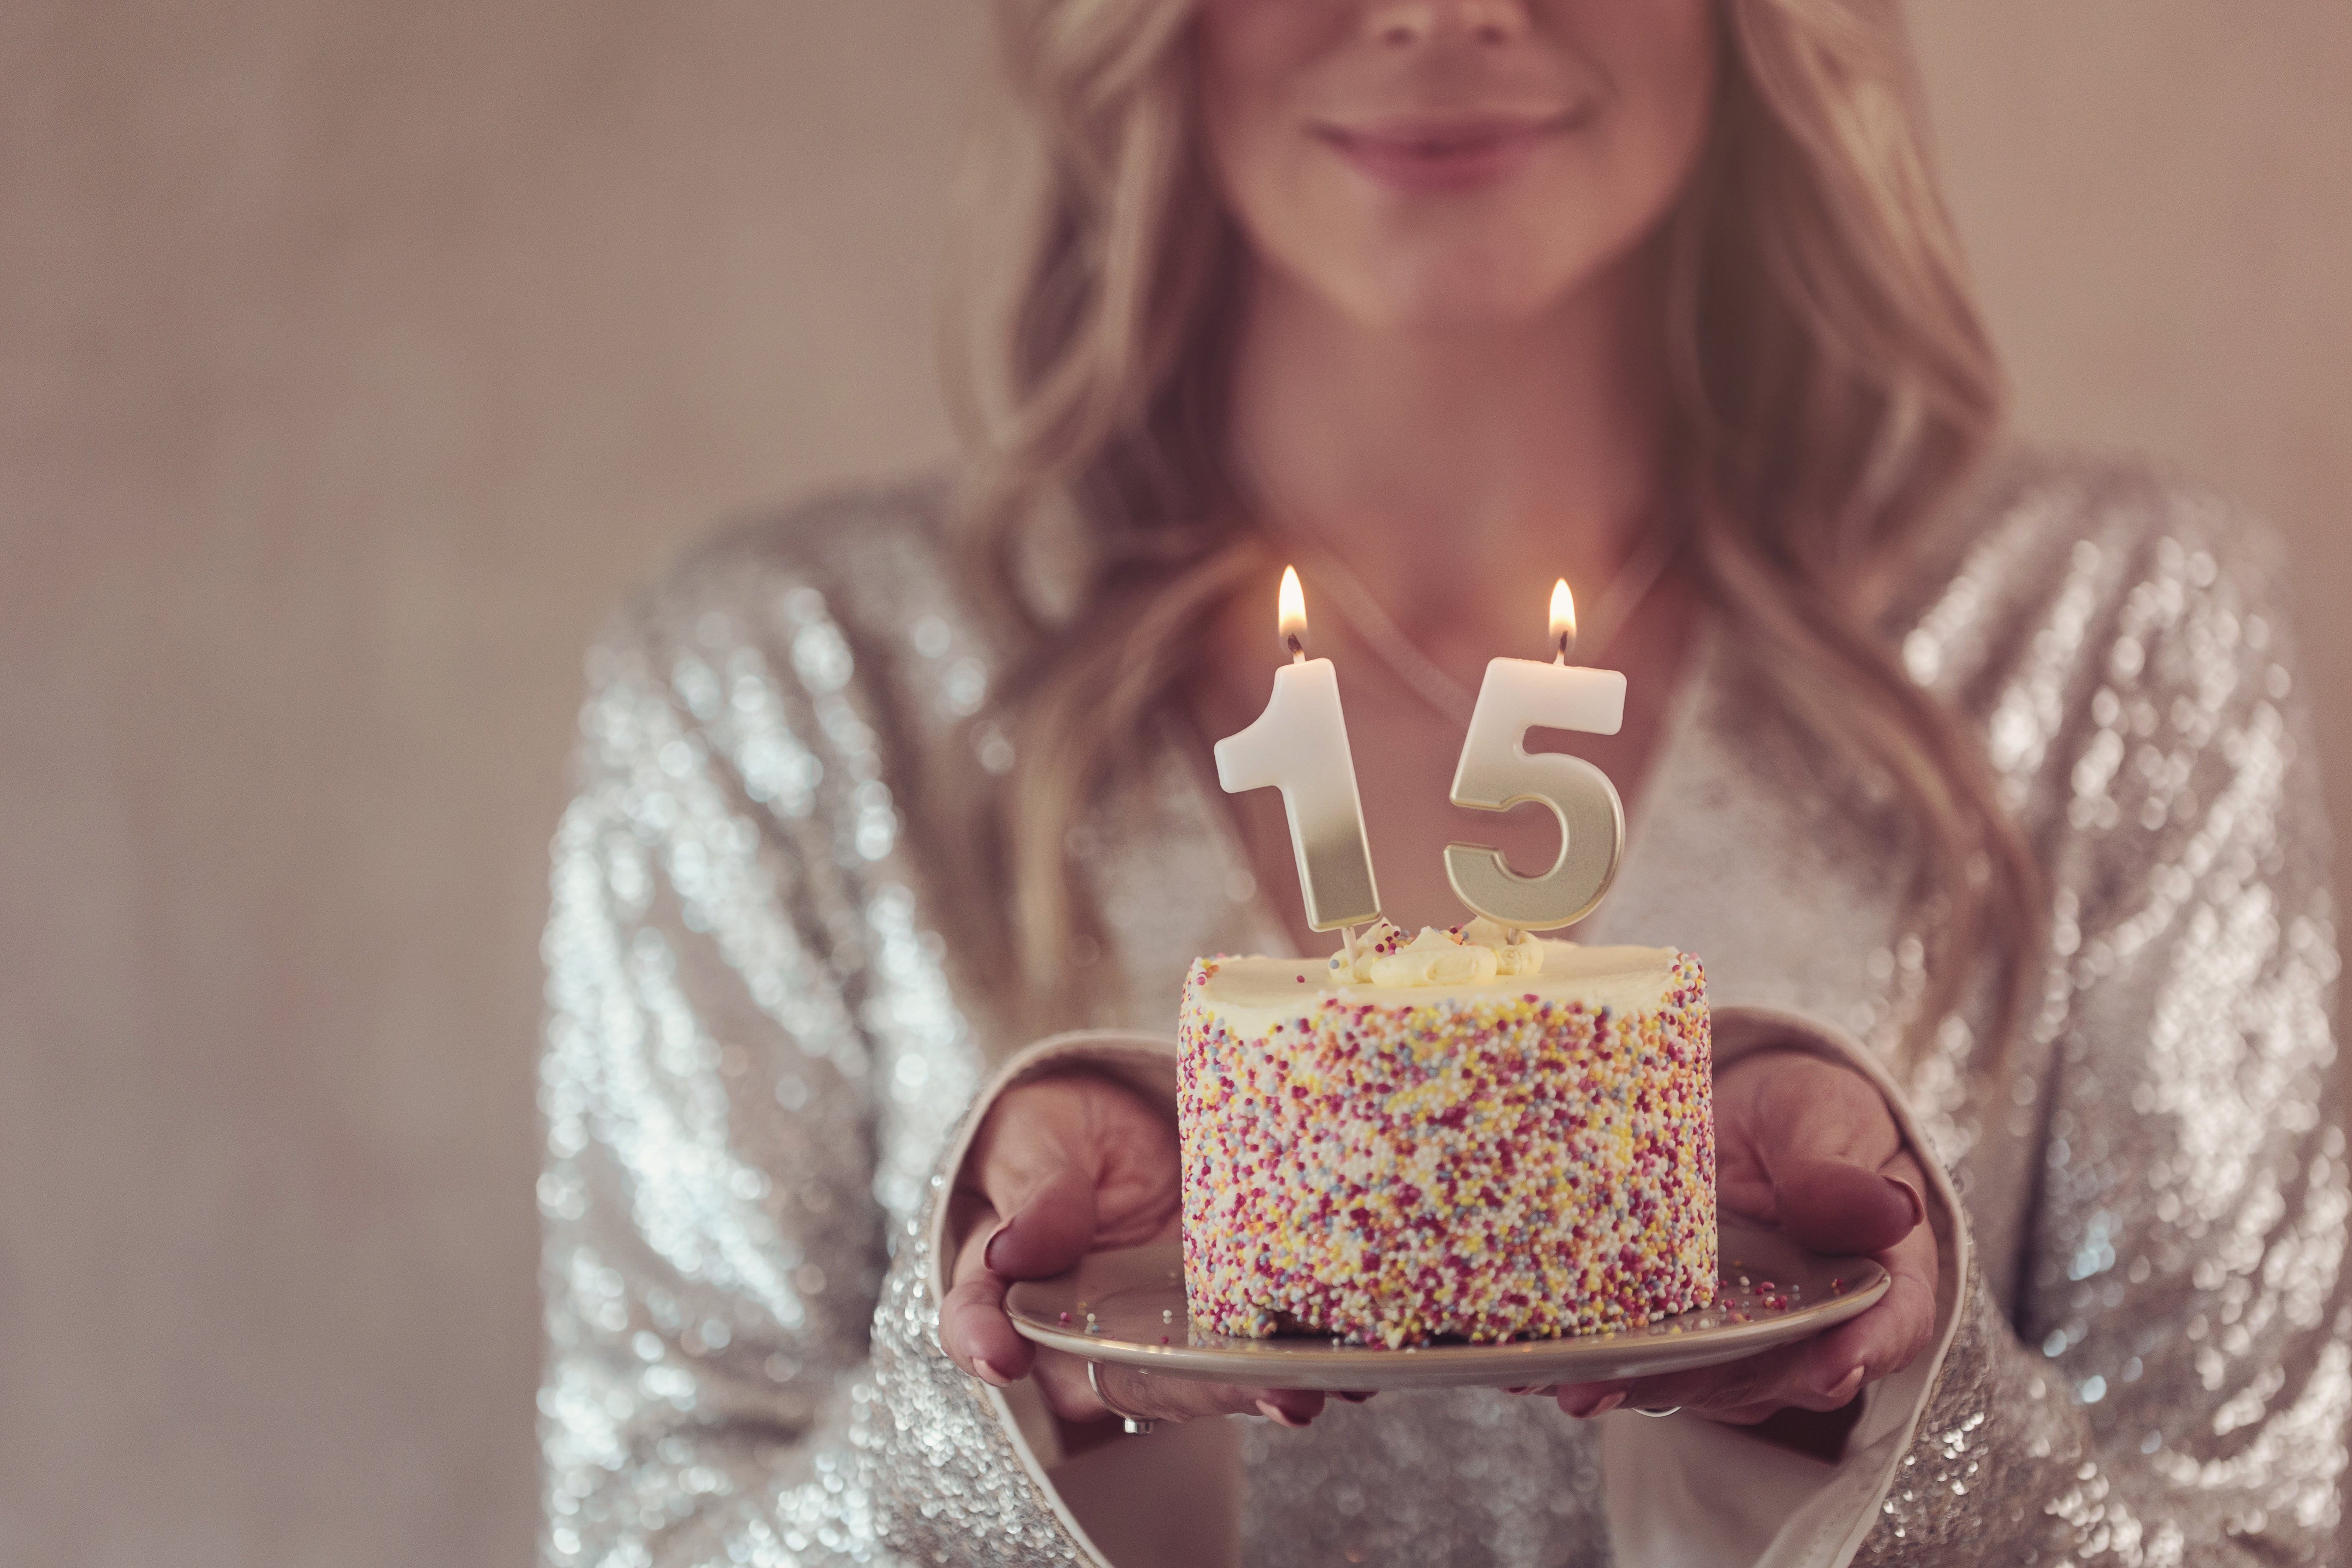
[[[1529,752],[1534,726],[1613,736],[1625,724],[1625,677],[1569,663],[1576,646],[1576,599],[1552,585],[1552,663],[1496,658],[1477,689],[1470,733],[1454,769],[1454,804],[1510,811],[1543,802],[1559,818],[1559,858],[1541,877],[1522,877],[1486,844],[1446,844],[1454,896],[1486,919],[1522,931],[1566,926],[1595,907],[1616,882],[1625,846],[1625,804],[1609,776],[1583,757]]]

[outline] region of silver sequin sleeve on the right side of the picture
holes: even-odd
[[[2011,1295],[1971,1281],[1858,1561],[2336,1561],[2336,936],[2274,567],[2150,480],[2018,512],[1912,663],[1976,665],[1962,696],[2053,875],[2037,1067],[1978,1112],[2039,1171]]]

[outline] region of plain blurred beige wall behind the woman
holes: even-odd
[[[0,7],[0,1561],[527,1561],[579,651],[950,451],[981,12]],[[2352,820],[2352,9],[1912,21],[2020,428],[2288,534]]]

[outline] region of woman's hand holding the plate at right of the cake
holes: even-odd
[[[1936,1331],[1936,1234],[1926,1175],[1877,1086],[1802,1051],[1757,1051],[1715,1079],[1722,1206],[1816,1253],[1867,1255],[1893,1286],[1870,1312],[1745,1361],[1555,1389],[1569,1415],[1679,1406],[1755,1425],[1776,1410],[1837,1410],[1910,1366]]]

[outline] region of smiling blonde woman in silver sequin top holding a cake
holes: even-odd
[[[2185,489],[1987,458],[1893,5],[1004,16],[1051,176],[976,484],[739,531],[590,656],[548,1561],[2331,1559],[2336,954],[2270,567]],[[1399,924],[1458,919],[1461,689],[1599,585],[1632,703],[1576,750],[1635,827],[1578,938],[1708,959],[1724,1204],[1875,1251],[1879,1307],[1334,1406],[1011,1333],[1009,1279],[1176,1182],[1164,1056],[1023,1041],[1329,945],[1279,813],[1202,783],[1282,559]]]

